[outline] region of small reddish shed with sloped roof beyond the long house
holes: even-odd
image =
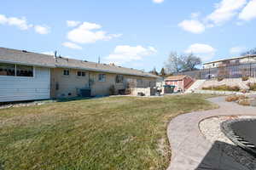
[[[175,86],[174,92],[184,92],[188,89],[194,82],[193,78],[189,76],[172,76],[166,77],[166,85]]]

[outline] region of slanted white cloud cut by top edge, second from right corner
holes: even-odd
[[[242,8],[247,0],[222,0],[215,4],[215,10],[207,16],[214,24],[220,25],[230,20],[237,14],[237,10]]]

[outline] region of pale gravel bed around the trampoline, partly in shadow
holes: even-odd
[[[200,122],[199,127],[201,133],[212,144],[215,141],[221,141],[225,144],[220,145],[220,149],[224,150],[228,156],[232,156],[238,163],[246,166],[248,169],[256,170],[256,158],[248,154],[247,151],[237,147],[224,133],[221,132],[220,123],[230,119],[238,118],[256,118],[256,116],[215,116]]]

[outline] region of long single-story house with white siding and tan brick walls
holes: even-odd
[[[147,88],[157,78],[117,65],[0,48],[0,102],[108,95],[112,87],[117,94],[131,80]]]

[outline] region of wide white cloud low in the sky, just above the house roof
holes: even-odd
[[[108,63],[115,63],[121,65],[131,61],[141,60],[152,54],[156,54],[157,50],[154,47],[143,48],[143,46],[129,46],[120,45],[117,46],[112,54],[109,54],[105,60]]]

